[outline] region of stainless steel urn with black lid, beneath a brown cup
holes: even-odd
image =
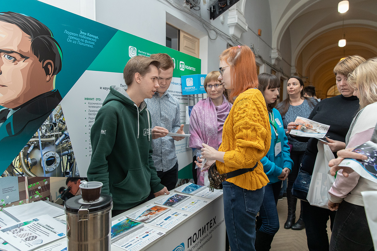
[[[69,251],[109,251],[111,239],[111,209],[109,195],[86,203],[81,195],[64,204],[67,219],[67,248]]]

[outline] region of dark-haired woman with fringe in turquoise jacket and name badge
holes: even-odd
[[[285,135],[283,120],[279,111],[274,107],[277,104],[280,80],[268,73],[258,76],[258,89],[266,101],[270,117],[271,146],[267,155],[262,158],[264,172],[270,183],[265,187],[263,202],[259,209],[255,249],[256,251],[270,250],[274,235],[279,230],[279,216],[277,215],[277,198],[279,197],[282,181],[288,177],[293,161],[290,158],[288,138]],[[260,224],[262,221],[262,224]]]

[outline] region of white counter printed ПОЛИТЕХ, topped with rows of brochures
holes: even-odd
[[[159,196],[113,217],[112,225],[118,220],[124,222],[124,219],[126,221],[133,219],[138,226],[135,231],[112,241],[111,250],[224,250],[225,222],[222,191],[210,192],[209,188],[205,188],[194,195],[189,195],[184,193],[187,189],[183,191],[181,189],[181,192],[178,190],[172,190],[170,195]],[[174,202],[177,202],[177,205],[173,205]],[[160,215],[155,219],[149,219],[153,217],[150,216],[151,214]]]

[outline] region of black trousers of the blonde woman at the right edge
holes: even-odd
[[[374,249],[364,207],[342,201],[334,219],[330,251],[346,250]]]

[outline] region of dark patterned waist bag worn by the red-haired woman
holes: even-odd
[[[217,170],[216,161],[215,161],[208,169],[208,180],[210,181],[211,192],[213,192],[213,189],[222,189],[223,181],[229,178],[236,177],[243,173],[252,172],[257,166],[258,166],[258,162],[252,168],[242,168],[242,169],[234,170],[228,173],[220,174]]]

